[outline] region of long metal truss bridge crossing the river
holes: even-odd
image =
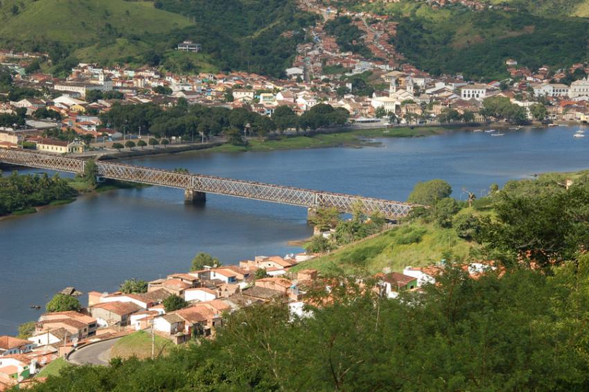
[[[83,173],[86,165],[85,160],[78,158],[2,149],[0,149],[0,162],[38,169],[67,171],[69,173]],[[184,189],[186,201],[204,201],[205,194],[211,193],[298,205],[307,207],[310,212],[317,208],[330,207],[334,207],[340,212],[352,212],[354,207],[358,205],[362,207],[365,214],[378,212],[390,220],[402,218],[412,209],[411,204],[397,201],[283,187],[282,185],[234,180],[233,178],[178,173],[164,169],[100,161],[96,162],[96,166],[98,167],[98,176],[104,178]]]

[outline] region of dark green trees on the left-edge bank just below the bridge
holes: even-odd
[[[14,171],[10,176],[0,176],[0,216],[28,211],[32,207],[47,205],[52,201],[70,200],[77,194],[67,180],[57,174],[53,177],[46,173],[19,176]]]

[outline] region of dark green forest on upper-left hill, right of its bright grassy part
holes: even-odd
[[[292,0],[159,0],[157,6],[195,22],[183,37],[200,42],[220,69],[272,76],[290,67],[303,28],[315,21]]]

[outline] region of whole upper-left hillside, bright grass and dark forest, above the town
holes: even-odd
[[[76,60],[164,66],[174,71],[240,69],[280,76],[314,17],[294,0],[4,0],[0,45],[47,51],[53,71]],[[173,51],[182,40],[203,53]]]

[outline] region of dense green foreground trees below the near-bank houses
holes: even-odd
[[[587,389],[587,256],[550,275],[473,280],[450,266],[438,282],[399,301],[344,280],[311,318],[249,307],[214,341],[155,361],[64,368],[35,391]]]

